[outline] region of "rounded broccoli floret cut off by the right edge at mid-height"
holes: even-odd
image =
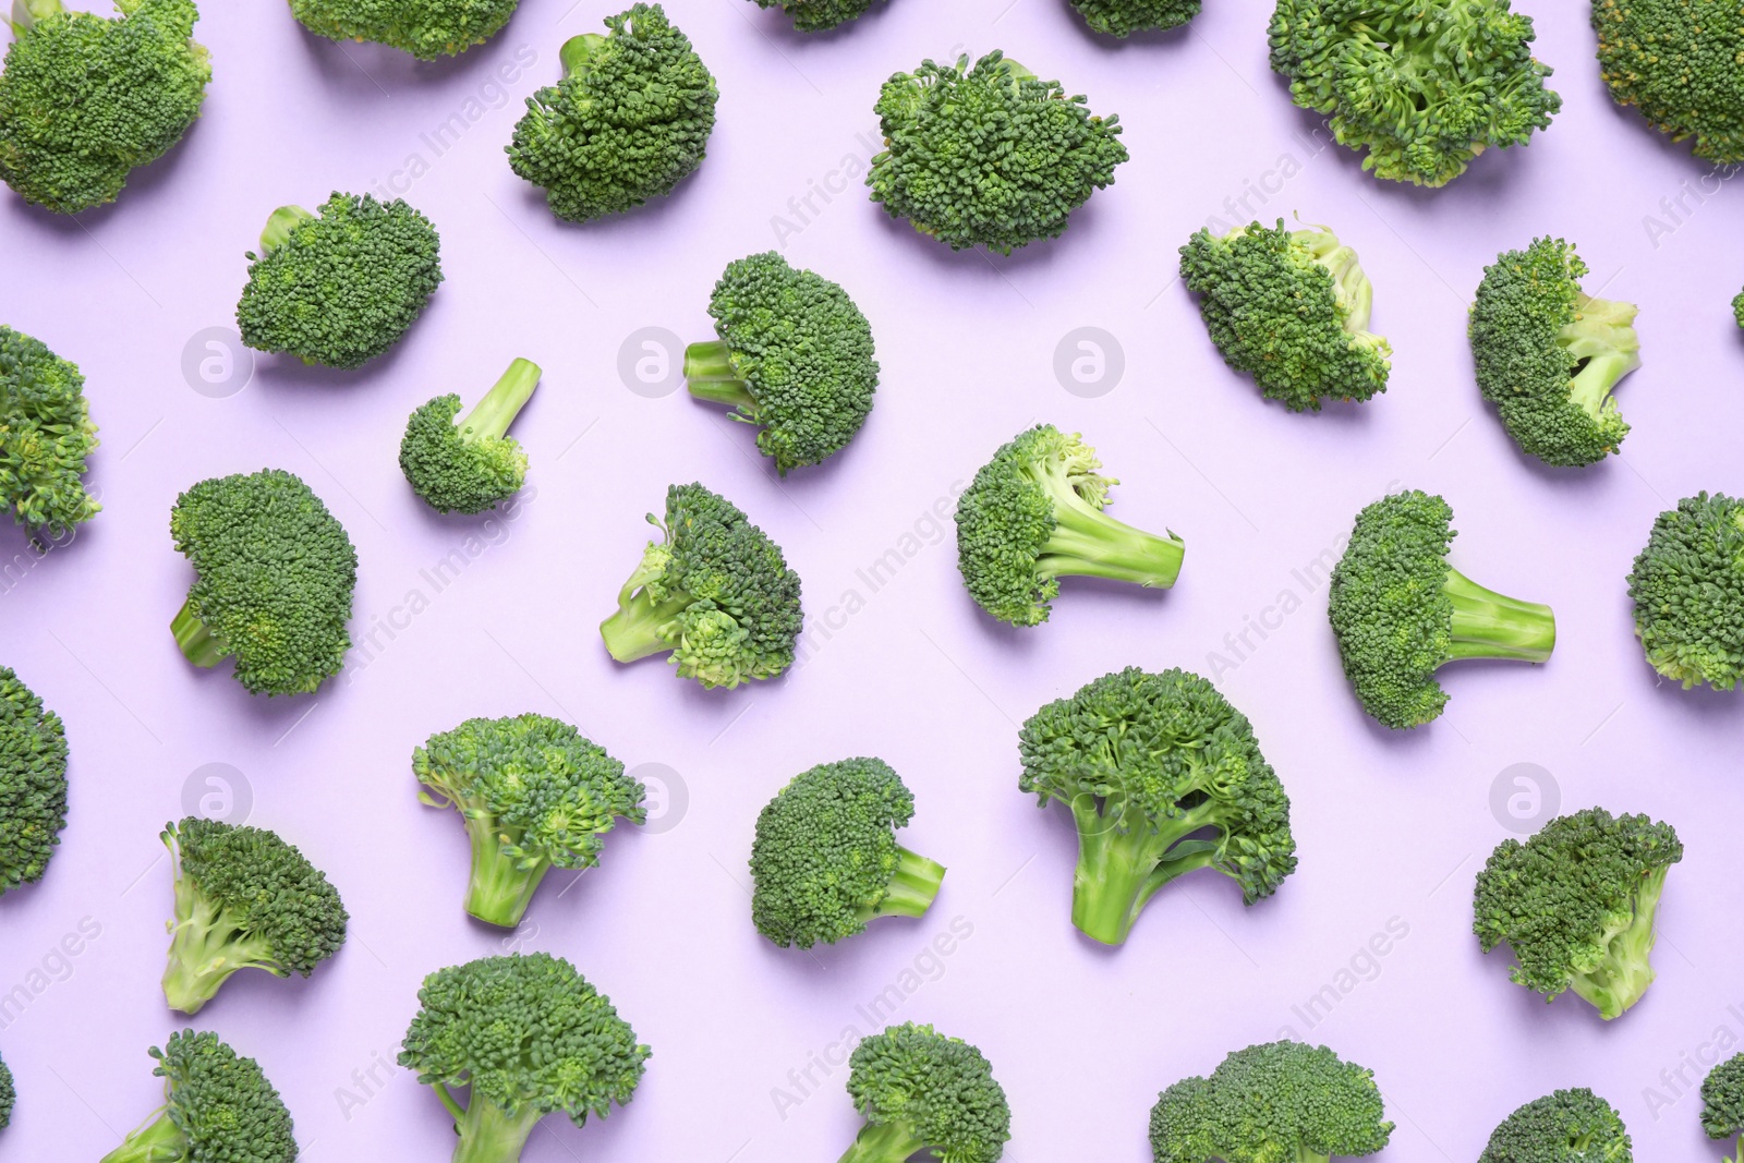
[[[1646,661],[1688,690],[1744,677],[1744,500],[1706,492],[1653,521],[1629,572]]]

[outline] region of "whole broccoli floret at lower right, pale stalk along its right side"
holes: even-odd
[[[1507,839],[1477,874],[1472,931],[1507,942],[1512,978],[1545,1001],[1575,990],[1611,1020],[1653,983],[1653,921],[1666,872],[1683,860],[1669,823],[1587,807],[1524,844]]]

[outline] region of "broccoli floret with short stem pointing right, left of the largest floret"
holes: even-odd
[[[881,758],[818,764],[757,816],[752,921],[787,949],[834,945],[874,917],[919,917],[945,867],[896,842],[914,795]]]

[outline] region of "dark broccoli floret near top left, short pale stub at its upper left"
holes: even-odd
[[[569,221],[671,194],[703,164],[715,78],[657,3],[605,17],[609,35],[563,44],[563,80],[527,98],[509,167]]]

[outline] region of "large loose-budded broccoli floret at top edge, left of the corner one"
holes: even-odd
[[[1535,38],[1509,0],[1278,0],[1271,68],[1376,178],[1442,187],[1563,108]]]

